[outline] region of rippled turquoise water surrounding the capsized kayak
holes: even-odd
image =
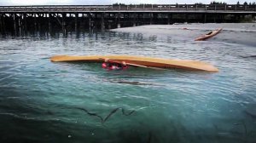
[[[255,32],[248,34],[255,40]],[[2,36],[0,141],[255,142],[255,53],[255,45],[219,38],[113,31]],[[203,60],[220,72],[110,72],[99,63],[50,62],[56,54]]]

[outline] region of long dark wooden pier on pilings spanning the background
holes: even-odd
[[[255,20],[256,5],[140,4],[0,6],[0,31],[78,31],[181,22]]]

